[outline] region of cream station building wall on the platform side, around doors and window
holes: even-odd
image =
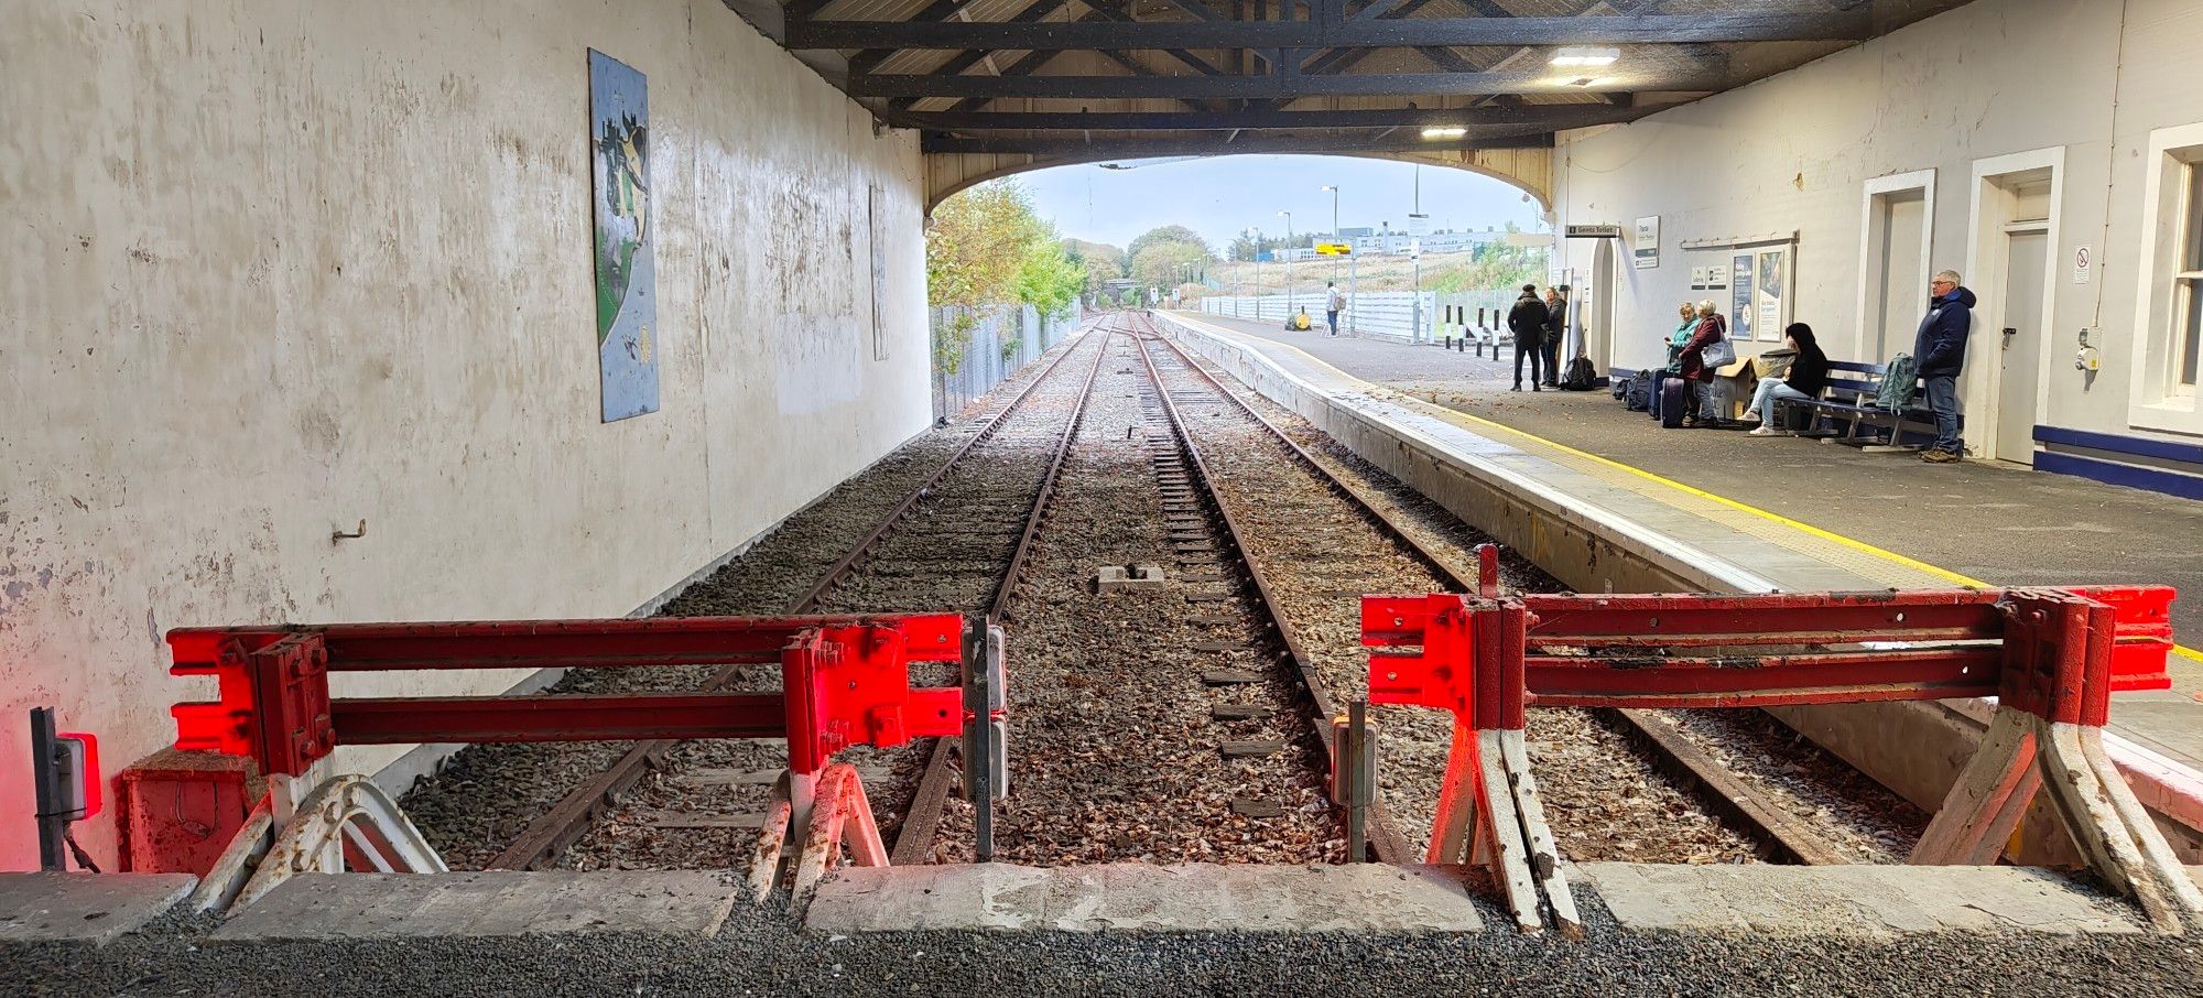
[[[1833,359],[1879,364],[1908,350],[1936,269],[1961,271],[1980,293],[1963,377],[1976,454],[2042,454],[1998,447],[1998,436],[2014,438],[1996,432],[2003,416],[2157,454],[2117,454],[2135,465],[2203,471],[2179,460],[2190,449],[2203,460],[2203,408],[2192,383],[2177,383],[2190,313],[2174,278],[2174,245],[2199,231],[2181,198],[2185,163],[2203,161],[2199,40],[2203,4],[2188,0],[1976,0],[1630,126],[1564,132],[1553,152],[1558,220],[1624,227],[1608,247],[1610,344],[1595,344],[1593,357],[1654,366],[1679,302],[1725,300],[1690,286],[1692,264],[1725,256],[1685,242],[1795,236],[1793,319],[1811,324]],[[1643,216],[1661,218],[1657,269],[1630,262]],[[2033,337],[2011,344],[2031,361],[2014,368],[2000,357],[1998,284],[2005,223],[2022,218],[2047,227],[2049,308]],[[1906,227],[1919,223],[1930,227],[1925,253],[1888,234],[1917,234]],[[2086,284],[2075,280],[2082,247],[2093,251]],[[1560,258],[1582,278],[1597,253],[1595,240],[1566,240]],[[1912,286],[1892,284],[1884,297],[1884,264]],[[1901,333],[1884,337],[1884,308]],[[2075,370],[2082,328],[2099,348],[2093,375]],[[2014,381],[2033,381],[2033,392],[2007,392],[2005,370],[2020,370]],[[2020,423],[2007,430],[2033,436]]]

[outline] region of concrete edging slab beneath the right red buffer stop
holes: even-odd
[[[1577,864],[1571,877],[1599,888],[1624,932],[2141,932],[2124,905],[2020,866]]]

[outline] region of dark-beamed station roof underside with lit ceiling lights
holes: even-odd
[[[1132,159],[1542,148],[1965,0],[725,2],[925,152]]]

